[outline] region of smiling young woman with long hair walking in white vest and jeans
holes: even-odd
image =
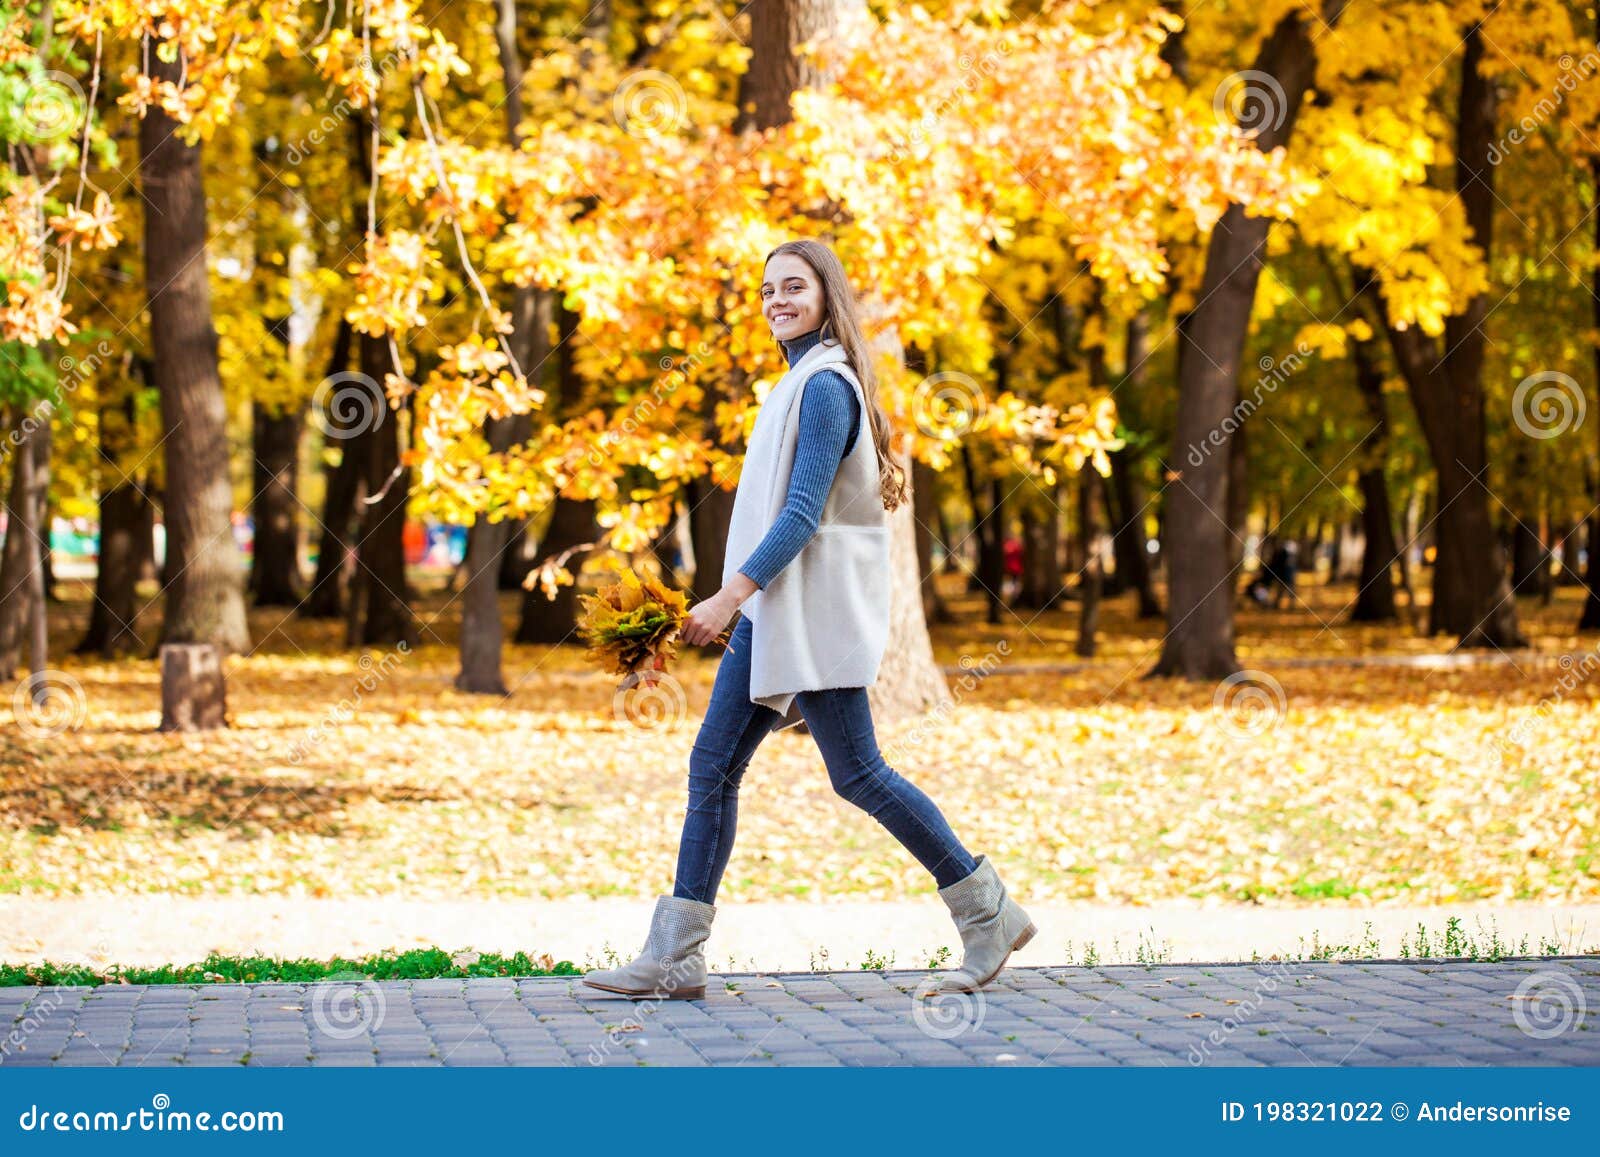
[[[1035,928],[987,856],[968,855],[933,800],[878,754],[867,687],[888,640],[885,514],[904,501],[906,472],[890,453],[856,298],[829,246],[786,242],[766,254],[762,312],[789,371],[750,434],[722,589],[682,631],[688,643],[709,643],[741,613],[690,755],[677,879],[656,898],[640,955],[584,983],[630,997],[706,995],[704,943],[733,851],[739,781],[768,733],[805,720],[834,789],[933,874],[955,920],[962,965],[923,995],[973,992]]]

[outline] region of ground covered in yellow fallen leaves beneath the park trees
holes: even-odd
[[[942,663],[1077,663],[1075,605],[982,624],[946,583],[962,621],[934,629]],[[1306,594],[1296,611],[1240,611],[1240,658],[1266,672],[1240,687],[1139,679],[1160,624],[1115,600],[1088,669],[952,677],[949,712],[880,725],[878,741],[1038,901],[1600,898],[1600,640],[1570,634],[1574,595],[1522,605],[1538,656],[1403,669],[1285,664],[1446,650],[1330,626],[1349,587]],[[229,661],[234,727],[206,735],[155,730],[154,661],[58,659],[82,687],[74,730],[27,738],[0,699],[0,893],[669,890],[715,656],[686,648],[677,727],[618,719],[614,677],[576,640],[509,648],[512,695],[466,696],[458,610],[429,595],[421,648],[365,658],[334,645],[338,624],[254,611],[256,651]],[[85,613],[54,615],[58,656]],[[931,891],[834,795],[810,736],[766,739],[720,899]]]

